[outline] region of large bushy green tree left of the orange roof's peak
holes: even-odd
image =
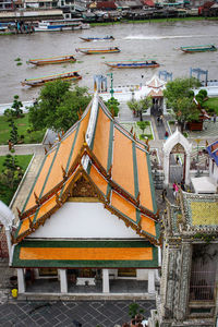
[[[68,131],[90,101],[86,87],[75,86],[66,81],[47,83],[34,106],[29,107],[29,123],[34,130],[51,129]]]

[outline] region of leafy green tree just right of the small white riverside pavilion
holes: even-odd
[[[168,82],[164,90],[168,107],[172,108],[182,132],[186,122],[198,120],[199,111],[194,102],[192,88],[199,85],[196,78],[175,78]]]

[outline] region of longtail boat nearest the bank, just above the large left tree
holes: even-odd
[[[82,76],[77,72],[69,72],[69,73],[56,74],[56,75],[50,75],[50,76],[45,76],[45,77],[25,80],[21,84],[23,86],[25,86],[25,85],[40,86],[47,82],[57,81],[57,80],[77,81],[81,78],[82,78]]]

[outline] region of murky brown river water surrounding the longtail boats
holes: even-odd
[[[112,35],[113,41],[84,43],[81,36],[102,37]],[[37,97],[40,88],[25,88],[21,82],[46,75],[78,71],[83,78],[80,86],[93,90],[93,76],[113,72],[114,86],[145,83],[160,70],[173,73],[173,77],[190,75],[190,68],[208,70],[209,80],[218,80],[218,51],[183,53],[181,46],[215,44],[218,46],[218,21],[183,21],[145,24],[118,24],[90,27],[71,32],[38,32],[32,35],[9,35],[0,37],[0,104],[12,102],[13,96],[21,100]],[[118,46],[120,53],[86,56],[76,52],[78,47]],[[66,64],[44,66],[27,65],[34,58],[74,55],[77,61]],[[16,65],[21,58],[22,65]],[[110,70],[105,61],[155,59],[158,69]],[[142,80],[142,75],[144,78]]]

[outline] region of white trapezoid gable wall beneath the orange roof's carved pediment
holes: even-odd
[[[101,203],[66,202],[29,238],[140,239]]]

